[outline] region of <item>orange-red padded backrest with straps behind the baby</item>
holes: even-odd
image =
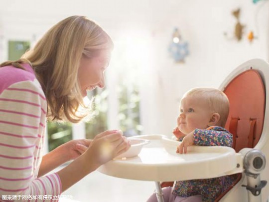
[[[225,128],[233,134],[233,148],[254,148],[259,142],[265,116],[265,87],[257,70],[236,76],[224,89],[230,101]]]

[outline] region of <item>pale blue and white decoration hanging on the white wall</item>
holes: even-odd
[[[177,63],[184,63],[185,57],[189,54],[188,43],[182,40],[178,28],[174,29],[168,51]]]

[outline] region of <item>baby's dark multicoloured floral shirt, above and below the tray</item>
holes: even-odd
[[[194,144],[199,146],[227,146],[232,147],[233,135],[219,126],[205,130],[195,129]],[[233,176],[222,176],[211,179],[177,181],[173,187],[173,194],[180,197],[201,195],[202,202],[214,202],[233,184]]]

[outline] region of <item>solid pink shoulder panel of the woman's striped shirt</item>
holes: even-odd
[[[16,68],[14,66],[0,67],[0,93],[12,84],[21,81],[34,81],[34,71],[28,64],[23,64],[23,69]]]

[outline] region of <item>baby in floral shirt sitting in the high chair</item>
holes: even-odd
[[[232,147],[233,135],[225,128],[229,100],[215,88],[194,88],[180,102],[177,127],[173,134],[182,141],[179,154],[187,153],[190,145]],[[184,137],[180,137],[184,134]],[[163,188],[164,202],[214,202],[232,184],[232,176],[212,179],[176,181],[173,188]],[[147,202],[157,202],[153,194]]]

